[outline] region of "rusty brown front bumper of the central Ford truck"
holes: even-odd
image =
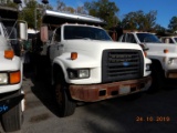
[[[96,102],[105,99],[146,91],[152,84],[152,78],[119,81],[105,84],[70,85],[71,98],[84,102]]]

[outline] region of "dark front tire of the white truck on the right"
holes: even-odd
[[[152,64],[152,79],[153,82],[147,92],[156,93],[163,88],[165,81],[164,71],[158,62],[153,62]]]

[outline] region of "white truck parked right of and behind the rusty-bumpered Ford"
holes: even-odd
[[[153,90],[163,88],[164,79],[177,79],[177,45],[162,43],[160,40],[149,32],[126,32],[119,42],[137,43],[147,48],[147,57],[152,59]]]

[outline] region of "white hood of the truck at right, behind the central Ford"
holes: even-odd
[[[149,52],[162,52],[167,49],[170,53],[177,53],[177,45],[168,43],[146,43]]]

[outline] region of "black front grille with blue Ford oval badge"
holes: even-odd
[[[144,73],[140,50],[104,50],[102,57],[102,82],[138,79]]]

